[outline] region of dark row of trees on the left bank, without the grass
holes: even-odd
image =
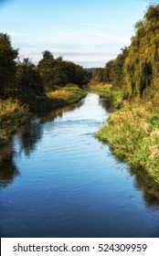
[[[0,33],[0,98],[12,96],[26,101],[28,97],[33,99],[68,83],[81,88],[89,82],[90,72],[80,65],[62,57],[55,59],[48,50],[42,54],[37,65],[29,58],[20,60],[10,36]]]

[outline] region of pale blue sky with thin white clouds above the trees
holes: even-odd
[[[48,49],[84,68],[104,67],[130,45],[147,0],[0,0],[0,32],[34,63]]]

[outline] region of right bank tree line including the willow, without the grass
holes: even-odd
[[[93,82],[110,82],[123,99],[151,100],[159,94],[159,5],[149,5],[135,26],[131,45],[96,69]]]

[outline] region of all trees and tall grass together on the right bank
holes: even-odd
[[[113,112],[108,123],[95,134],[133,173],[159,191],[159,5],[149,5],[143,20],[135,25],[129,48],[108,62],[100,81],[111,82],[111,91],[121,91],[120,110]],[[118,62],[119,61],[119,62]],[[116,69],[116,72],[114,70]],[[121,71],[120,71],[121,70]],[[118,72],[119,71],[119,72]],[[91,88],[109,93],[104,86]],[[103,76],[103,74],[106,74]],[[119,80],[116,80],[119,76]],[[114,97],[114,101],[116,98]]]

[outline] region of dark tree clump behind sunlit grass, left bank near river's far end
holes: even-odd
[[[61,57],[54,59],[49,51],[43,52],[43,59],[39,61],[38,69],[46,91],[56,90],[57,87],[65,86],[67,83],[76,83],[81,87],[90,80],[89,72],[80,65],[63,60]]]

